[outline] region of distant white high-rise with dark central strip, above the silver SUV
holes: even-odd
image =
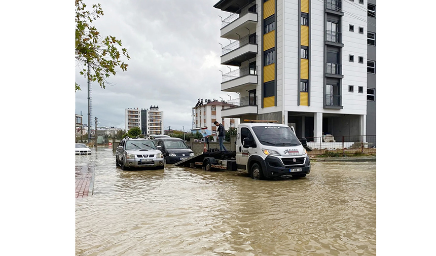
[[[150,109],[126,108],[124,115],[127,131],[138,127],[143,134],[162,134],[163,132],[163,111],[159,111],[159,106],[150,106]]]

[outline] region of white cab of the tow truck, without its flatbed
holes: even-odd
[[[284,124],[239,124],[236,168],[254,179],[305,177],[310,172],[310,160],[303,144],[294,129]]]

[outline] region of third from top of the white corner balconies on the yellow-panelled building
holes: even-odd
[[[245,66],[223,75],[221,91],[241,92],[256,89],[258,84],[256,66]]]

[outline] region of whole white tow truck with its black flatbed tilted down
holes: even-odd
[[[253,179],[310,173],[306,139],[298,139],[294,127],[269,120],[244,121],[249,123],[238,125],[236,152],[207,151],[174,165],[240,171]]]

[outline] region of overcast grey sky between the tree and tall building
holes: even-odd
[[[113,35],[127,48],[129,67],[121,69],[102,89],[92,84],[92,121],[98,126],[125,128],[124,109],[159,105],[164,128],[192,129],[192,107],[198,98],[224,100],[236,93],[221,92],[221,72],[237,69],[220,64],[221,18],[229,13],[213,8],[217,0],[84,1],[100,3],[104,16],[92,24],[102,36]],[[78,70],[78,68],[76,69]],[[87,82],[76,71],[76,114],[88,123]],[[229,94],[230,96],[228,96]],[[93,124],[95,125],[95,124]]]

